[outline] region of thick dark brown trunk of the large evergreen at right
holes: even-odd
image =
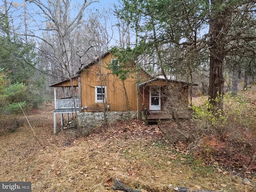
[[[208,100],[214,106],[213,113],[223,109],[223,64],[226,55],[225,52],[225,35],[229,28],[229,12],[223,8],[220,9],[219,0],[211,1],[210,16],[210,82]]]

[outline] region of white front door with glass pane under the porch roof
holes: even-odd
[[[149,110],[161,110],[160,87],[150,87],[149,89]]]

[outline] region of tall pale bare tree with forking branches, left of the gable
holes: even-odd
[[[41,0],[26,0],[26,2],[36,5],[39,9],[38,14],[45,18],[44,24],[46,26],[45,28],[38,26],[39,30],[49,31],[53,38],[49,38],[49,33],[46,33],[46,36],[39,36],[35,33],[29,34],[29,36],[36,37],[47,45],[47,49],[43,50],[43,54],[47,56],[46,58],[50,64],[58,66],[62,80],[64,78],[70,80],[72,98],[75,103],[72,60],[76,54],[72,32],[80,25],[84,10],[93,2],[98,2],[98,0],[84,0],[74,16],[71,16],[72,9],[70,7],[71,1],[69,0],[47,1],[47,4]],[[77,117],[76,109],[75,114]]]

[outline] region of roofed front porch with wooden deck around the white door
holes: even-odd
[[[190,118],[188,96],[191,86],[186,82],[156,78],[139,84],[142,119],[150,123]]]

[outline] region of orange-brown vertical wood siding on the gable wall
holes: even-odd
[[[95,102],[95,86],[106,86],[106,104],[110,105],[109,111],[127,111],[125,86],[130,110],[137,110],[135,74],[130,74],[130,77],[124,81],[123,86],[118,76],[112,74],[112,71],[106,68],[110,62],[111,55],[106,54],[102,62],[92,64],[80,73],[81,100],[84,112],[104,110],[103,103]]]

